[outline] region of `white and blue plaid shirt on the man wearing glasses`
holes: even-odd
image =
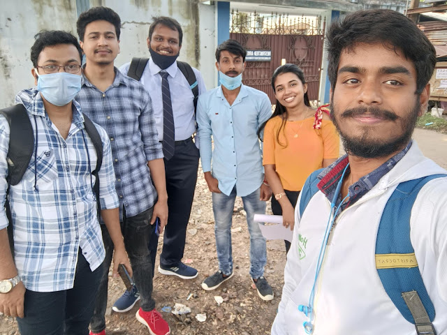
[[[41,94],[36,89],[20,92],[16,102],[27,108],[37,136],[27,171],[9,191],[15,266],[28,290],[68,290],[73,288],[79,248],[92,271],[101,265],[105,256],[96,216],[95,177],[91,175],[96,168],[96,150],[84,131],[84,117],[75,101],[73,123],[65,140],[45,113]],[[103,164],[98,172],[101,208],[113,209],[119,202],[110,142],[103,128],[96,128],[103,140]],[[0,229],[8,226],[3,204],[8,187],[9,134],[8,121],[1,116]]]

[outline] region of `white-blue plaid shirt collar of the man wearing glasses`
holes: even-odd
[[[48,122],[51,122],[50,118],[45,113],[45,106],[43,105],[41,92],[38,91],[36,87],[20,91],[15,97],[15,102],[22,103],[32,115],[36,115],[36,117],[44,117]],[[81,106],[79,105],[78,101],[72,101],[72,110],[73,123],[78,128],[83,129],[84,116],[82,115]]]

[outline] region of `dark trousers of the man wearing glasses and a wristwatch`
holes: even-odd
[[[88,335],[89,321],[103,265],[91,271],[82,252],[78,255],[72,289],[57,292],[26,290],[24,318],[17,318],[22,335]]]

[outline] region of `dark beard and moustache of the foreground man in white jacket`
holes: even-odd
[[[333,99],[332,99],[333,101]],[[402,150],[406,144],[411,140],[413,130],[418,119],[418,112],[420,110],[420,103],[416,99],[416,103],[407,111],[404,117],[399,117],[397,114],[389,110],[382,110],[378,107],[357,107],[344,112],[336,112],[337,106],[330,103],[330,119],[337,128],[340,137],[342,138],[343,147],[346,152],[352,156],[362,158],[381,158],[389,156],[399,150]],[[379,139],[374,134],[374,128],[371,126],[362,127],[362,135],[350,136],[340,129],[340,123],[348,117],[356,117],[368,113],[375,117],[395,122],[397,136],[391,135],[387,139]]]

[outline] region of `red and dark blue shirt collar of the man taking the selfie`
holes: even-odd
[[[365,176],[358,179],[358,181],[356,181],[354,184],[349,186],[349,200],[342,204],[342,210],[357,202],[360,198],[362,198],[363,195],[368,193],[368,191],[370,191],[385,174],[390,172],[390,170],[393,169],[395,165],[409,151],[412,143],[413,141],[410,141],[409,144],[407,144],[402,151],[388,159],[388,161],[380,165],[379,168],[376,168],[376,170],[369,172],[369,174],[366,174]],[[326,198],[328,198],[329,201],[332,201],[332,198],[334,198],[335,189],[337,188],[339,179],[342,177],[343,170],[344,168],[346,168],[346,165],[348,165],[348,163],[348,155],[344,155],[337,161],[332,163],[327,169],[323,170],[323,172],[318,174],[318,179],[320,179],[320,181],[318,182],[317,186],[320,191],[325,194]],[[348,168],[346,172],[351,172],[350,168]],[[340,202],[342,202],[341,193],[338,195],[336,205],[338,206]]]

